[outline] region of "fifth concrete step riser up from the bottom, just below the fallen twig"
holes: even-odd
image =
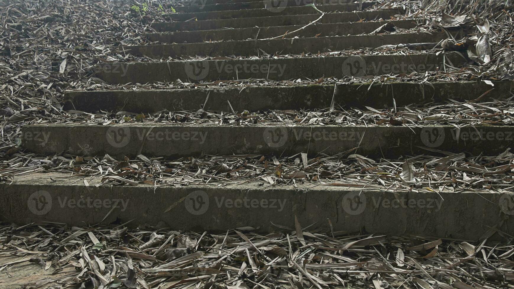
[[[459,33],[455,33],[459,34]],[[279,36],[279,35],[276,35]],[[342,51],[345,49],[377,48],[401,43],[438,43],[448,38],[446,32],[398,33],[384,35],[353,35],[292,39],[241,40],[187,44],[156,44],[124,46],[120,51],[150,58],[184,56],[258,56]],[[457,37],[455,37],[457,38]]]

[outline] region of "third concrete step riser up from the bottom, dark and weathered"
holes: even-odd
[[[514,92],[513,81],[493,81],[494,90],[486,97],[507,98]],[[174,89],[174,90],[106,90],[68,91],[64,108],[86,112],[128,111],[153,113],[163,109],[170,111],[197,110],[209,100],[205,110],[230,111],[228,102],[236,112],[267,109],[301,110],[327,108],[332,97],[341,106],[370,106],[382,108],[421,104],[424,102],[472,100],[478,98],[491,86],[483,81],[470,82],[386,82],[370,84],[341,84],[334,95],[333,85],[309,86],[256,86],[241,88],[214,89]],[[486,99],[486,98],[484,98]],[[484,100],[483,99],[483,100]]]

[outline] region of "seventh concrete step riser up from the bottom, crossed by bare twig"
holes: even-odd
[[[328,13],[319,20],[318,23],[342,23],[357,22],[362,19],[390,19],[396,14],[401,14],[398,9],[362,11],[362,12],[338,12]],[[248,17],[218,20],[199,20],[187,22],[164,22],[154,23],[152,28],[157,31],[192,31],[192,30],[213,30],[223,28],[248,28],[248,27],[268,27],[268,26],[289,26],[306,25],[318,19],[320,14],[304,15],[276,15],[269,17]]]

